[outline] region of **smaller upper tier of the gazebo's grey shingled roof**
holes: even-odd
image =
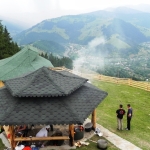
[[[4,83],[16,97],[54,97],[71,94],[87,80],[42,67],[24,77],[6,80]]]

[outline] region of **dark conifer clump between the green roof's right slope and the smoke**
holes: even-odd
[[[47,53],[42,53],[41,56],[48,59],[54,67],[64,66],[68,69],[73,69],[73,61],[69,57],[59,58],[57,56],[54,56],[52,53],[50,55],[48,55]]]

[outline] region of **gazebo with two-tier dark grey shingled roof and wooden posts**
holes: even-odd
[[[68,71],[46,67],[4,81],[5,86],[0,88],[0,123],[9,125],[12,150],[17,141],[68,139],[74,145],[74,124],[83,124],[91,113],[95,128],[95,108],[107,93],[87,81]],[[14,125],[21,124],[68,124],[70,135],[16,138]]]

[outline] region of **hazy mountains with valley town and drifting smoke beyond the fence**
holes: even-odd
[[[70,57],[74,68],[145,80],[150,79],[149,20],[148,12],[119,7],[44,20],[13,39]]]

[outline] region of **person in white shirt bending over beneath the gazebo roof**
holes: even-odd
[[[50,126],[47,125],[46,127],[43,127],[37,134],[36,137],[47,137],[48,136],[48,131],[50,129]],[[41,147],[44,147],[44,145],[47,143],[48,141],[44,141],[44,143],[42,144]],[[41,143],[41,142],[40,142]],[[39,143],[39,144],[40,144]]]

